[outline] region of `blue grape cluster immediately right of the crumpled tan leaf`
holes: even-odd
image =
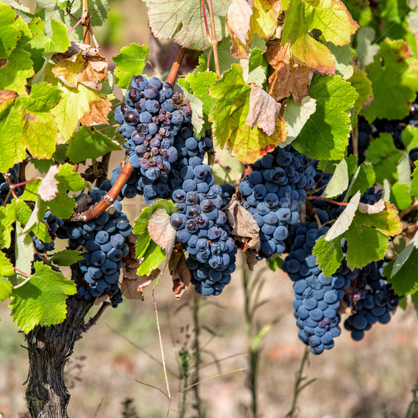
[[[259,258],[269,258],[284,252],[289,225],[299,220],[298,211],[307,199],[305,189],[314,187],[316,170],[290,146],[276,148],[252,168],[238,189],[242,206],[260,227]]]

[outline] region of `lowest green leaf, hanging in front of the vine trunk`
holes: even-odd
[[[67,314],[67,297],[77,293],[74,281],[63,274],[39,261],[33,267],[35,274],[22,286],[13,288],[9,304],[13,321],[26,334],[36,325],[62,323]]]

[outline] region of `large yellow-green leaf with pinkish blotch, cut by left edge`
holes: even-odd
[[[6,171],[26,158],[52,157],[56,123],[50,113],[61,91],[47,83],[34,84],[30,96],[20,96],[0,104],[0,171]]]

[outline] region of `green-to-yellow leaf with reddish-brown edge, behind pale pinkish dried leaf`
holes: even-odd
[[[275,122],[275,132],[265,137],[257,126],[251,128],[245,121],[249,114],[251,87],[242,78],[242,67],[233,64],[231,70],[224,72],[209,89],[209,94],[216,100],[209,114],[213,123],[213,138],[224,148],[228,146],[231,155],[246,164],[255,162],[279,142],[286,139],[286,127],[279,116]]]

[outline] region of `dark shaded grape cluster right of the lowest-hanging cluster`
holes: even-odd
[[[364,332],[369,331],[373,324],[387,324],[390,313],[396,309],[402,297],[394,293],[392,286],[382,275],[384,261],[369,264],[364,274],[364,291],[355,303],[355,309],[344,322],[351,338],[361,341]]]

